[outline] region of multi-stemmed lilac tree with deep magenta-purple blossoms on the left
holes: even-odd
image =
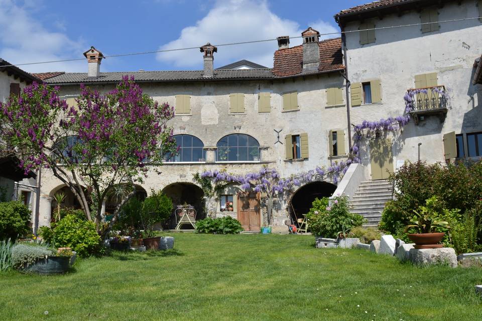
[[[128,76],[105,95],[81,86],[77,107],[58,94],[58,87],[33,83],[20,98],[0,103],[2,149],[15,153],[26,172],[50,168],[99,230],[102,203],[114,187],[142,182],[146,162],[160,164],[173,150],[167,121],[174,112]],[[123,195],[114,217],[134,193]]]

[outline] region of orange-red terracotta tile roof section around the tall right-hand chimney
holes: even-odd
[[[343,55],[341,38],[328,39],[318,43],[320,47],[319,71],[342,70]],[[303,71],[303,45],[275,51],[273,74],[278,77],[292,76]]]

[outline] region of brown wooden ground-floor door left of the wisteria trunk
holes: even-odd
[[[237,220],[245,231],[261,230],[260,193],[237,194]]]

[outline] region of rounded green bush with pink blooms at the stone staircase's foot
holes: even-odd
[[[349,211],[348,199],[335,197],[331,206],[328,198],[315,199],[307,215],[308,228],[315,236],[336,238],[339,231],[347,231],[365,222],[363,216]]]

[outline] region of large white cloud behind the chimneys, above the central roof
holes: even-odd
[[[338,31],[323,21],[314,22],[311,27],[321,34]],[[162,45],[160,50],[202,46],[207,42],[217,45],[275,39],[279,36],[301,36],[306,28],[307,26],[300,28],[298,23],[272,13],[266,1],[218,1],[204,18],[194,26],[184,28],[178,39]],[[330,38],[333,37],[337,35]],[[300,38],[290,40],[290,46],[300,44]],[[273,53],[277,49],[276,41],[221,46],[214,56],[214,67],[241,59],[272,67]],[[202,68],[202,56],[196,49],[159,53],[157,59],[173,64],[174,68]]]

